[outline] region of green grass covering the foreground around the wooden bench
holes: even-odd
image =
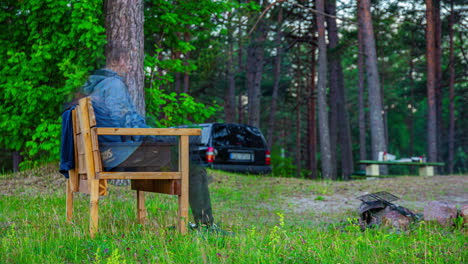
[[[65,222],[64,180],[45,168],[0,178],[0,263],[466,263],[466,230],[426,223],[398,231],[361,232],[356,214],[321,221],[294,213],[288,197],[315,194],[318,202],[366,181],[313,182],[211,172],[215,218],[234,236],[191,231],[180,235],[176,197],[149,194],[148,224],[137,224],[136,199],[112,187],[100,200],[100,232],[88,235],[88,196],[76,194]],[[318,218],[318,219],[317,219]]]

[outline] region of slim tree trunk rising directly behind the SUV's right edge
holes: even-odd
[[[283,22],[283,8],[281,4],[279,6],[278,11],[278,19],[277,19],[277,28],[276,28],[276,57],[274,61],[274,84],[273,84],[273,93],[271,95],[271,107],[270,107],[270,116],[268,118],[268,132],[267,132],[267,139],[268,139],[268,149],[272,149],[273,146],[273,137],[275,130],[275,115],[276,115],[276,105],[278,101],[278,90],[279,90],[279,82],[280,82],[280,75],[281,75],[281,25]]]

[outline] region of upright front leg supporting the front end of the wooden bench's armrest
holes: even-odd
[[[179,198],[179,231],[182,234],[187,233],[188,208],[189,208],[189,137],[181,136],[179,142],[179,162],[181,179],[181,194]]]

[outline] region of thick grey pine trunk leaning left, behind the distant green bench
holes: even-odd
[[[362,39],[366,54],[367,89],[369,100],[369,117],[371,128],[372,159],[378,159],[380,151],[387,151],[385,142],[385,127],[383,121],[382,95],[380,90],[379,72],[377,67],[377,54],[375,50],[374,29],[370,12],[370,0],[361,0],[359,12],[359,26],[362,28]],[[381,173],[387,174],[387,168],[381,167]]]

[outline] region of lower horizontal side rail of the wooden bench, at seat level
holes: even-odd
[[[177,180],[182,178],[180,172],[108,172],[97,174],[99,179],[129,179],[129,180]]]

